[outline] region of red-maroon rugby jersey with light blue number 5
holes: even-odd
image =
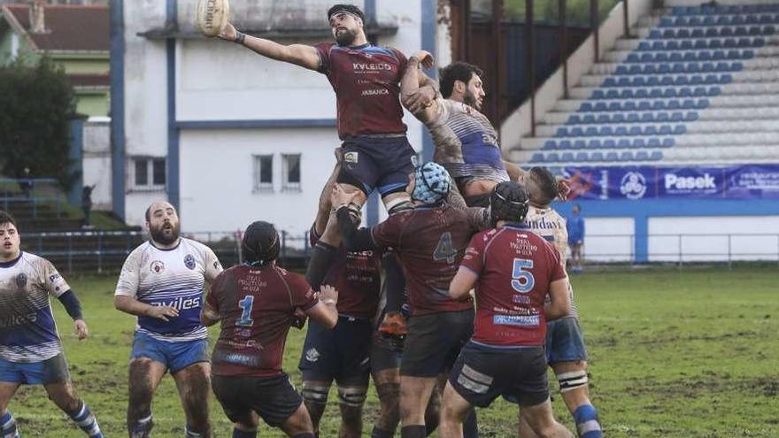
[[[474,235],[462,265],[479,274],[473,340],[498,346],[544,344],[544,299],[566,278],[557,250],[524,227]]]

